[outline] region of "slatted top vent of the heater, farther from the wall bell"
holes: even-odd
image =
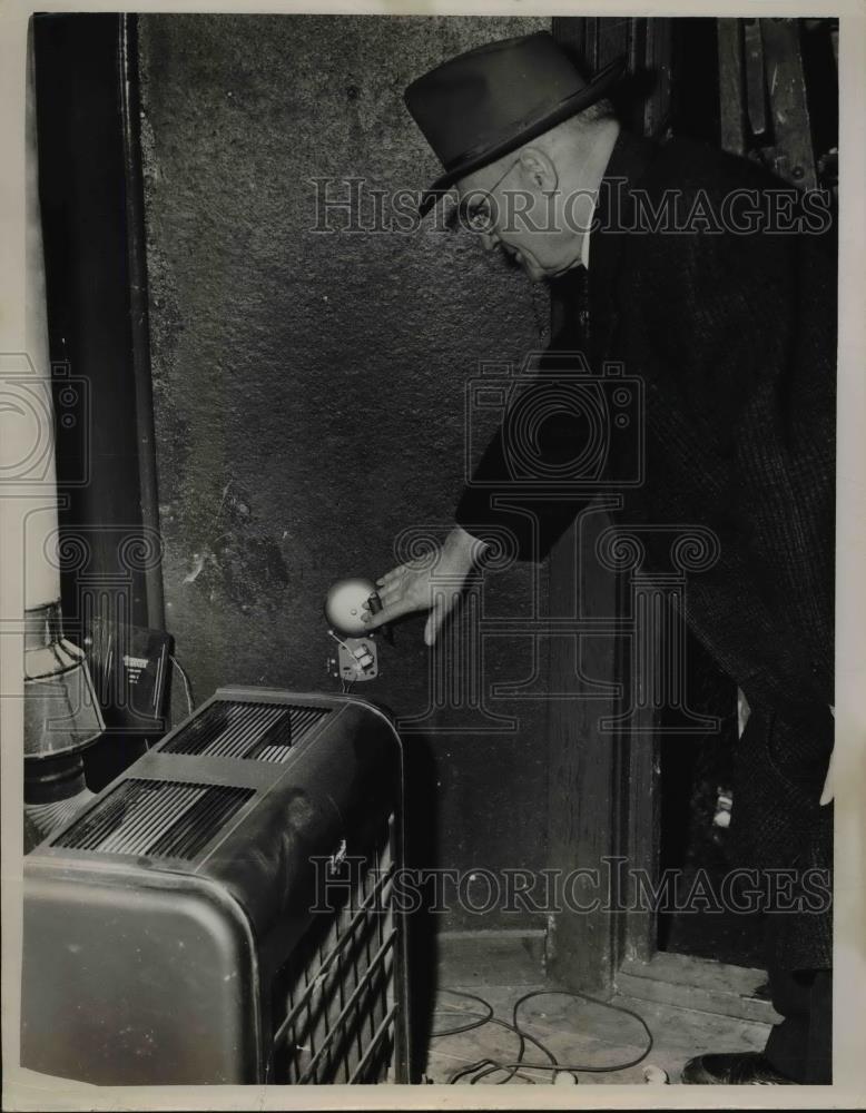
[[[52,841],[76,850],[195,858],[254,789],[127,780]]]

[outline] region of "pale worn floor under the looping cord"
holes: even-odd
[[[453,988],[464,988],[454,986]],[[533,988],[550,986],[466,986],[469,993],[488,1001],[494,1016],[511,1021],[514,1002]],[[735,1020],[716,1013],[706,1013],[676,1005],[637,1001],[619,994],[610,998],[613,1005],[629,1008],[641,1016],[650,1028],[653,1046],[637,1066],[609,1073],[579,1072],[581,1085],[646,1084],[644,1068],[649,1065],[667,1072],[671,1083],[679,1082],[679,1072],[692,1056],[707,1051],[760,1051],[767,1040],[769,1025]],[[440,992],[436,999],[435,1026],[440,1030],[455,1027],[472,1020],[482,1011],[464,998]],[[564,995],[537,997],[521,1006],[521,1027],[541,1040],[560,1063],[587,1066],[616,1065],[636,1058],[646,1047],[647,1036],[637,1020],[614,1013],[601,1005],[578,1001]],[[494,1024],[485,1024],[460,1035],[442,1036],[431,1041],[426,1074],[435,1083],[446,1083],[462,1066],[484,1057],[512,1062],[518,1047],[513,1032]],[[548,1062],[545,1056],[528,1044],[528,1062]],[[549,1072],[528,1072],[539,1083],[552,1081]],[[504,1075],[491,1074],[480,1084],[495,1084]],[[515,1085],[529,1085],[515,1077]],[[560,1082],[563,1084],[564,1080]],[[469,1083],[469,1080],[461,1080]]]

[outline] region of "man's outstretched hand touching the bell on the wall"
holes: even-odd
[[[382,610],[365,614],[367,629],[374,630],[402,614],[429,610],[424,641],[432,646],[442,623],[456,607],[472,565],[486,548],[483,541],[455,526],[435,555],[425,555],[386,572],[376,580]]]

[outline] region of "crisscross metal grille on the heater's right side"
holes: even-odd
[[[277,975],[268,1081],[374,1083],[391,1064],[397,1006],[392,909],[394,817],[378,848],[347,857],[332,877],[322,913]],[[348,893],[346,893],[348,889]]]

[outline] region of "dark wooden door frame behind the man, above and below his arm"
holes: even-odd
[[[652,75],[653,86],[633,100],[626,122],[643,134],[663,130],[671,98],[670,19],[557,18],[552,31],[588,73],[624,53],[632,82]],[[563,306],[555,295],[553,301],[554,321],[561,319]],[[628,613],[628,577],[589,559],[609,525],[602,501],[551,553],[551,613],[574,620],[575,631],[585,622]],[[658,712],[640,710],[627,732],[601,726],[628,708],[637,682],[630,671],[630,639],[623,630],[594,639],[580,632],[550,639],[551,689],[560,695],[549,705],[548,863],[561,877],[583,868],[599,869],[601,878],[606,858],[624,859],[627,868],[650,877],[658,871]],[[589,695],[593,678],[613,691]],[[549,919],[547,969],[557,982],[610,989],[623,961],[652,957],[657,925],[649,909],[579,912],[564,896]]]

